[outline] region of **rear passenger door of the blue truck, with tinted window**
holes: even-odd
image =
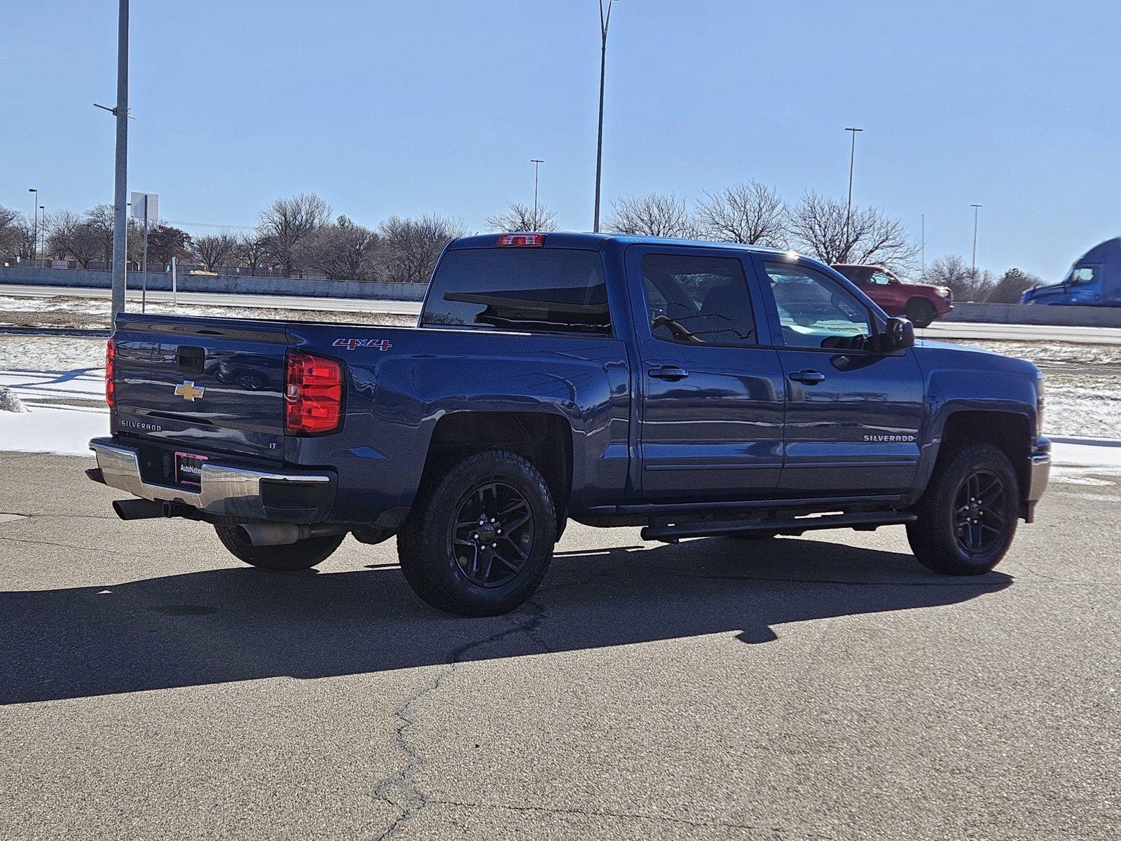
[[[630,246],[649,502],[750,499],[778,486],[784,381],[760,346],[742,251]]]

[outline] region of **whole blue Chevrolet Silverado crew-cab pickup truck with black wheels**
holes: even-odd
[[[204,520],[281,571],[396,535],[416,593],[469,616],[529,598],[569,518],[665,542],[905,525],[930,570],[983,573],[1050,468],[1035,366],[710,242],[458,239],[416,327],[120,314],[105,387],[87,472],[123,519]]]

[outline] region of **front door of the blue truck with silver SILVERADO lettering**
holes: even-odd
[[[924,400],[914,350],[868,350],[876,318],[836,278],[800,260],[753,259],[787,380],[784,496],[910,489]]]

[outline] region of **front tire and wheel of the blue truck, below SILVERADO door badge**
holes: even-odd
[[[947,575],[982,575],[1016,535],[1019,483],[992,444],[969,444],[935,468],[907,540],[918,562]]]

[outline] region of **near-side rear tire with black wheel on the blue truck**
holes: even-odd
[[[405,580],[428,604],[497,616],[537,590],[556,528],[553,496],[537,469],[491,450],[429,471],[397,536],[397,555]]]

